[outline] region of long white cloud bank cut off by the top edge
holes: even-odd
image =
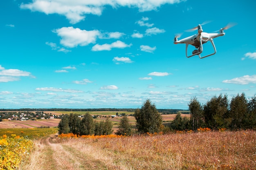
[[[84,20],[85,15],[101,15],[104,6],[138,8],[140,12],[157,10],[164,4],[179,3],[182,0],[33,0],[22,3],[21,9],[43,12],[45,14],[64,15],[71,24]]]

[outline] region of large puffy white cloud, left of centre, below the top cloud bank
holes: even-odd
[[[76,46],[87,46],[88,44],[95,43],[97,37],[100,35],[98,30],[86,31],[79,28],[62,27],[61,29],[55,29],[53,31],[61,37],[60,43],[66,47],[76,47]]]

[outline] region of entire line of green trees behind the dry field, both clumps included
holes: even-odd
[[[155,104],[147,99],[141,108],[136,109],[136,129],[132,129],[126,116],[122,117],[117,135],[132,135],[155,132],[170,132],[176,130],[193,130],[210,128],[212,130],[256,129],[256,95],[246,99],[245,93],[232,97],[227,95],[213,96],[206,104],[201,104],[196,97],[191,98],[189,104],[190,117],[182,117],[177,113],[175,119],[168,126],[163,126],[162,115]],[[86,113],[83,119],[78,115],[64,115],[59,125],[59,133],[74,133],[78,135],[109,135],[112,133],[112,123],[93,121]]]

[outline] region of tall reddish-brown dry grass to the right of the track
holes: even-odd
[[[79,152],[90,153],[91,157],[101,159],[112,167],[110,169],[256,169],[255,131],[208,131],[97,139],[70,138],[63,140],[62,145]]]

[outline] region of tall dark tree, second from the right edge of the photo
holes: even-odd
[[[245,93],[232,97],[229,116],[231,117],[231,129],[245,128],[248,123],[248,102]]]

